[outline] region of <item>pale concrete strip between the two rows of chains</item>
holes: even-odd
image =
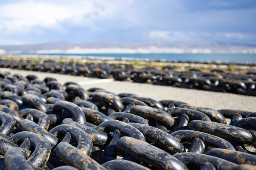
[[[150,97],[155,100],[172,99],[187,102],[196,106],[218,109],[239,109],[245,111],[256,111],[256,97],[243,96],[239,94],[220,93],[212,91],[200,91],[194,89],[175,88],[169,86],[142,84],[134,82],[114,81],[113,79],[97,79],[78,77],[64,74],[42,73],[35,71],[14,70],[0,68],[0,72],[9,71],[11,74],[34,74],[39,79],[54,77],[58,82],[73,81],[79,83],[85,90],[92,87],[104,88],[115,94],[132,93],[140,96]]]

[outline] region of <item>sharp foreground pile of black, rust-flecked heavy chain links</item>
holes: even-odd
[[[256,169],[256,113],[1,77],[1,170]]]

